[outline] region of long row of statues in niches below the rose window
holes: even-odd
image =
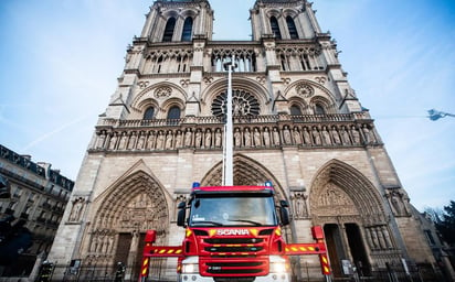
[[[160,131],[120,131],[107,133],[98,132],[94,142],[95,150],[176,150],[180,148],[211,149],[221,148],[221,128],[198,128],[192,131],[187,128],[162,129]],[[359,129],[352,124],[346,126],[294,126],[276,127],[235,127],[234,147],[332,147],[351,144],[375,144],[378,139],[370,124],[361,124]]]

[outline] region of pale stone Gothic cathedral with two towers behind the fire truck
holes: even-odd
[[[191,183],[221,184],[231,61],[234,184],[274,183],[292,206],[288,241],[313,241],[310,227],[324,226],[335,278],[345,276],[342,261],[368,276],[403,262],[437,274],[374,121],[311,3],[256,0],[251,41],[213,41],[213,15],[208,0],[150,7],[52,247],[50,259],[63,263],[55,276],[96,279],[121,261],[134,281],[145,230],[157,229],[158,243],[180,243],[176,207]],[[172,279],[173,267],[160,261],[150,272]],[[294,274],[303,272],[320,280],[317,258],[294,261]]]

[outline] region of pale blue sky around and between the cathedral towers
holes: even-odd
[[[411,204],[455,200],[455,0],[313,0]],[[213,40],[251,40],[254,0],[211,0]],[[1,0],[0,144],[76,180],[152,0]]]

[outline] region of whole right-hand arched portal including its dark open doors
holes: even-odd
[[[369,275],[375,252],[393,248],[380,194],[352,166],[338,160],[322,166],[313,181],[309,206],[314,225],[324,226],[335,276],[345,275],[348,261]]]

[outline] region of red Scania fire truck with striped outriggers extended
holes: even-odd
[[[139,282],[146,281],[154,257],[177,257],[178,281],[183,282],[288,282],[289,256],[301,254],[319,256],[322,274],[330,274],[321,228],[313,227],[314,243],[286,243],[282,227],[289,224],[288,205],[275,203],[271,183],[193,185],[189,202],[179,205],[182,245],[154,246],[156,234],[148,230]]]

